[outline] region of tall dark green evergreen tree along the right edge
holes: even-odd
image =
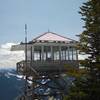
[[[68,100],[100,100],[100,0],[87,0],[79,13],[85,25],[78,47],[89,55],[81,62],[87,74],[75,80]]]

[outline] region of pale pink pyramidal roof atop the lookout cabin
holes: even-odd
[[[36,38],[33,39],[33,41],[64,41],[64,42],[70,42],[70,41],[74,41],[70,38],[61,36],[57,33],[53,33],[53,32],[46,32]]]

